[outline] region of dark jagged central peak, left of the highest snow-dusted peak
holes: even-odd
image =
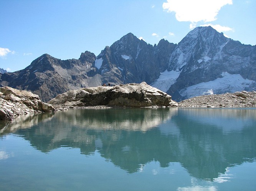
[[[166,59],[173,51],[172,43],[164,41],[160,47],[139,40],[132,33],[123,36],[110,47],[106,47],[95,61],[95,67],[104,83],[150,84],[167,68]]]

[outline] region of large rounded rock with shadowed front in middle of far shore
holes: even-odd
[[[98,86],[71,90],[50,100],[48,104],[75,106],[108,105],[119,107],[177,107],[172,97],[159,89],[147,85],[125,84],[120,86]]]

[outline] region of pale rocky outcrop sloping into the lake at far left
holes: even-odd
[[[54,112],[55,108],[42,102],[39,96],[12,87],[0,87],[0,120],[29,113]]]

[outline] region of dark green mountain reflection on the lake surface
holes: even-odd
[[[17,134],[41,152],[97,151],[128,173],[152,161],[161,167],[178,162],[193,177],[214,180],[255,160],[255,122],[255,109],[77,109],[17,119],[2,126],[0,138]]]

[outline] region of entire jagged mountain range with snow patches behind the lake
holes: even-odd
[[[180,101],[206,94],[256,90],[256,45],[244,45],[208,27],[178,44],[147,44],[132,33],[96,57],[60,60],[44,54],[29,66],[0,74],[0,86],[31,91],[44,102],[71,89],[145,81]]]

